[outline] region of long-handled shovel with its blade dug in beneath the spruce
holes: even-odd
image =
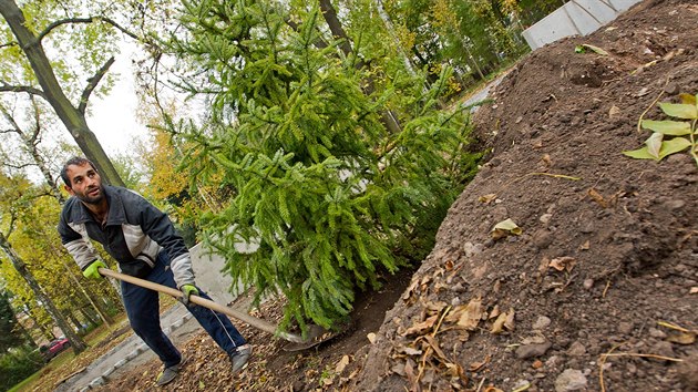
[[[172,287],[167,287],[167,286],[163,286],[163,285],[158,285],[158,283],[154,283],[150,280],[145,280],[145,279],[138,279],[136,277],[132,277],[130,275],[124,275],[124,274],[120,274],[116,271],[113,271],[111,269],[106,269],[106,268],[99,268],[97,271],[102,275],[102,276],[106,276],[106,277],[111,277],[114,279],[119,279],[119,280],[123,280],[126,282],[130,282],[132,285],[136,285],[146,289],[151,289],[154,291],[158,291],[162,293],[166,293],[170,295],[174,298],[182,298],[183,293],[182,291],[177,290],[177,289],[173,289]],[[299,350],[305,350],[305,349],[309,349],[311,347],[318,345],[331,338],[333,338],[336,334],[330,333],[329,331],[327,331],[325,328],[320,327],[320,326],[315,326],[315,324],[310,324],[308,326],[308,338],[304,339],[301,336],[296,334],[296,333],[290,333],[290,332],[284,332],[284,331],[277,331],[277,327],[261,319],[258,319],[256,317],[249,316],[245,312],[242,312],[239,310],[235,310],[228,307],[224,307],[219,303],[216,303],[212,300],[208,300],[206,298],[199,297],[199,296],[195,296],[192,295],[189,297],[189,302],[195,303],[195,305],[199,305],[204,308],[208,308],[211,310],[215,310],[218,312],[222,312],[224,314],[227,314],[229,317],[233,317],[235,319],[238,319],[240,321],[244,321],[259,330],[263,330],[265,332],[271,333],[274,336],[277,336],[284,340],[287,340],[289,342],[291,342],[291,344],[288,344],[287,347],[284,348],[284,350],[286,351],[299,351]]]

